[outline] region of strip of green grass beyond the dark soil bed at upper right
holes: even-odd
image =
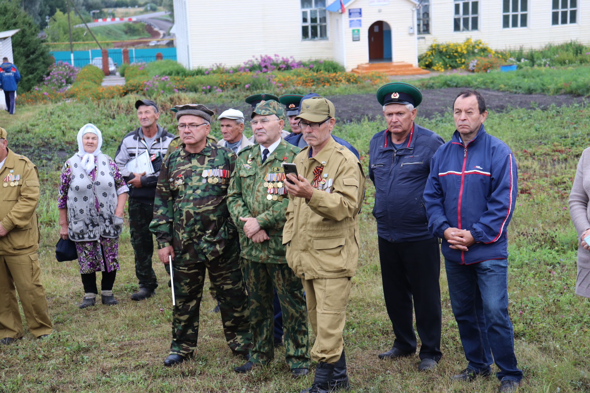
[[[466,75],[467,74],[467,75]],[[470,87],[519,94],[590,94],[590,66],[523,68],[510,72],[482,72],[438,75],[414,81],[419,88]]]

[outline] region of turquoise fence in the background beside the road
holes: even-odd
[[[109,57],[117,64],[117,67],[123,64],[123,48],[111,48]],[[135,49],[129,48],[129,62],[150,62],[156,61],[156,53],[160,52],[164,59],[176,60],[176,48],[146,48]],[[70,51],[51,51],[55,62],[63,61],[71,63]],[[90,64],[93,58],[102,58],[100,49],[89,49],[87,51],[74,51],[74,67],[84,67]]]

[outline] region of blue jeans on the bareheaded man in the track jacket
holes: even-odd
[[[468,368],[490,371],[495,361],[500,381],[520,381],[522,371],[516,366],[514,333],[508,315],[508,261],[490,259],[460,265],[445,260],[445,268]]]

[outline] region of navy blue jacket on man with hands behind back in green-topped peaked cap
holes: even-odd
[[[377,235],[389,242],[431,239],[422,202],[430,160],[444,140],[414,124],[402,147],[395,149],[388,130],[369,145],[369,177],[375,184]]]

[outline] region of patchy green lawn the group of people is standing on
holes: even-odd
[[[275,361],[266,368],[248,375],[231,371],[241,360],[230,356],[219,315],[208,312],[215,304],[207,293],[201,306],[195,358],[165,368],[162,360],[171,338],[170,293],[162,285],[166,274],[155,262],[162,285],[156,296],[139,303],[129,299],[136,279],[128,230],[120,238],[121,270],[114,286],[120,304],[77,308],[83,295],[77,263],[58,263],[53,255],[58,237],[57,170],[73,154],[77,129],[87,122],[103,131],[103,151],[112,156],[120,138],[135,127],[135,114],[130,110],[133,100],[124,97],[93,105],[48,105],[37,108],[34,115],[20,114],[19,123],[12,123],[8,130],[11,146],[19,152],[26,150],[41,166],[41,282],[55,333],[47,341],[37,341],[27,332],[18,344],[0,348],[0,392],[299,392],[310,385],[313,373],[291,380],[283,349],[278,349]],[[0,126],[7,117],[0,113]],[[171,126],[168,116],[160,119]],[[418,118],[417,123],[437,131],[445,140],[454,130],[450,114]],[[520,194],[509,227],[509,311],[516,356],[525,375],[523,391],[587,393],[590,301],[573,294],[576,235],[566,206],[579,154],[590,146],[590,108],[573,105],[490,113],[486,126],[489,133],[509,144],[519,165]],[[365,120],[336,124],[334,133],[358,148],[366,170],[369,138],[383,127],[383,121]],[[59,148],[66,150],[63,157],[57,156]],[[344,332],[352,391],[496,391],[499,382],[495,378],[471,383],[448,379],[463,369],[466,361],[444,269],[444,357],[436,371],[418,372],[417,356],[400,361],[376,358],[389,349],[394,337],[383,304],[372,203],[373,188],[368,184],[360,214],[359,269],[353,278]]]

